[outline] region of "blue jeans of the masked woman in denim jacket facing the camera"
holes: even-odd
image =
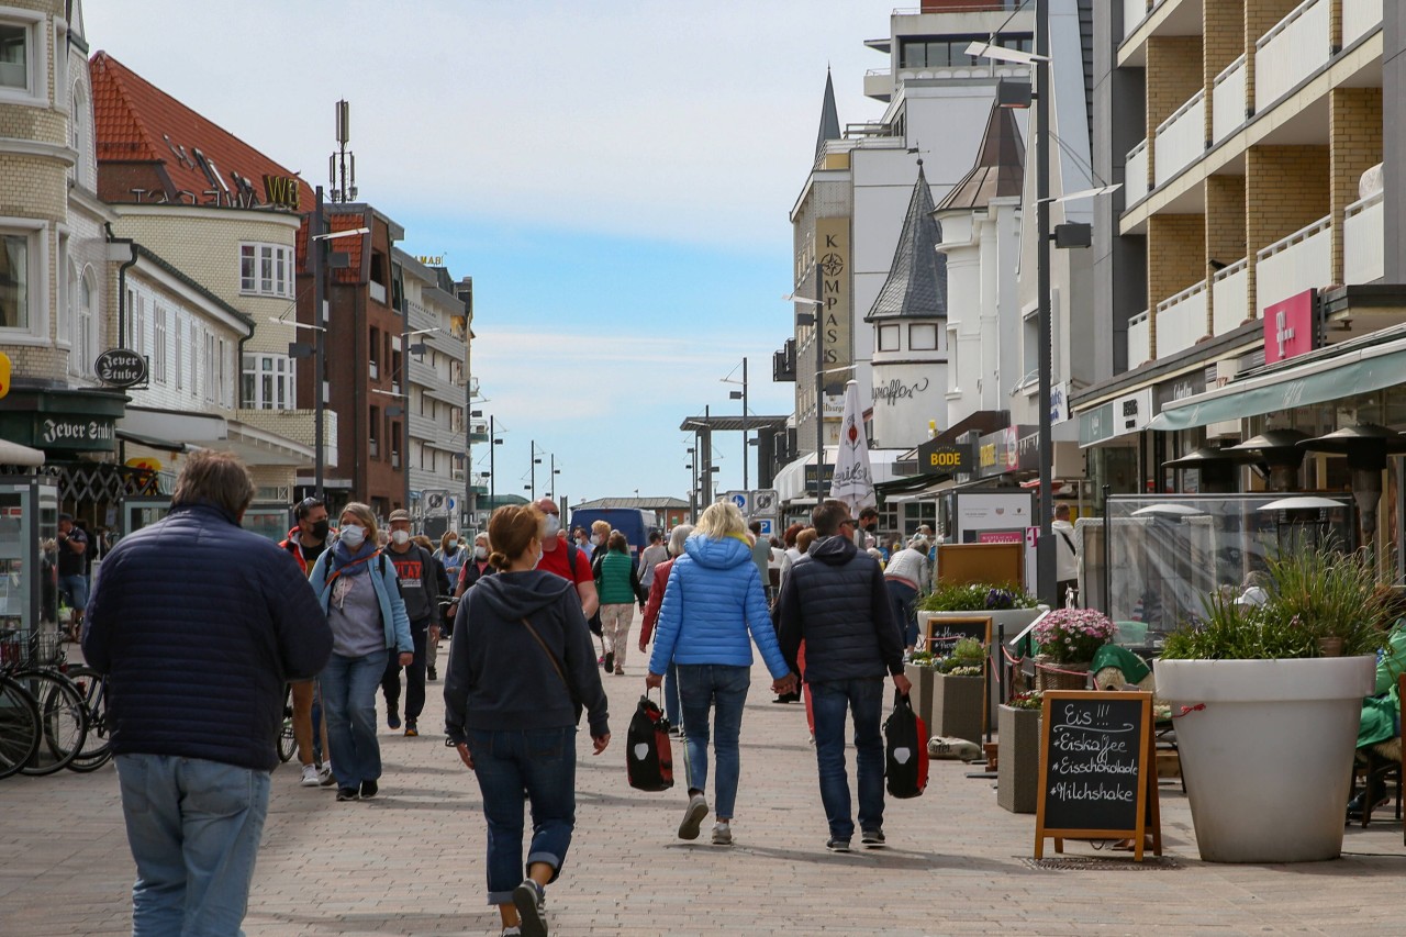
[[[328,744],[337,786],[360,788],[381,777],[381,746],[375,740],[375,688],[389,651],[364,657],[333,654],[318,677],[328,713]]]

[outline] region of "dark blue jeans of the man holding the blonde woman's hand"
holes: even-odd
[[[859,768],[859,829],[883,827],[883,677],[830,680],[808,684],[815,709],[815,764],[820,768],[820,802],[825,806],[830,836],[855,834],[845,771],[845,710],[855,718],[855,763]]]

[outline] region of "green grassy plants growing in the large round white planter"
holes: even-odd
[[[1371,557],[1329,546],[1268,560],[1264,605],[1215,592],[1204,615],[1167,636],[1167,660],[1282,660],[1322,657],[1322,639],[1344,656],[1375,654],[1392,619],[1391,592],[1378,585]]]

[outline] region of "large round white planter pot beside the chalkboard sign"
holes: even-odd
[[[1201,858],[1337,858],[1375,658],[1161,660],[1156,673],[1173,712],[1205,705],[1177,719]]]

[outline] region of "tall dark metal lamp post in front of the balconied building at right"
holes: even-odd
[[[1035,582],[1040,598],[1050,606],[1059,608],[1059,597],[1054,595],[1054,533],[1050,522],[1054,516],[1054,446],[1050,426],[1050,383],[1052,370],[1052,324],[1050,324],[1050,13],[1049,0],[1035,0],[1035,217],[1036,217],[1036,262],[1039,284],[1039,428],[1040,428],[1040,539],[1035,547]]]

